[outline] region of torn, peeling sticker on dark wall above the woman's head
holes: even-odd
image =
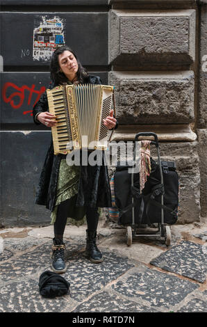
[[[33,31],[33,60],[51,59],[57,47],[65,45],[64,19],[60,17],[38,17]]]

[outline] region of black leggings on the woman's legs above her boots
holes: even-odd
[[[65,200],[58,205],[58,212],[56,221],[54,223],[54,236],[56,239],[63,239],[65,225],[67,223],[67,216],[69,211],[70,202]],[[97,230],[99,223],[99,213],[97,208],[86,207],[86,220],[88,230]]]

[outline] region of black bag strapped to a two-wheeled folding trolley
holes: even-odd
[[[179,206],[179,176],[173,161],[160,161],[158,137],[154,133],[143,132],[135,136],[135,144],[140,136],[154,136],[151,144],[156,146],[158,162],[151,159],[151,174],[140,194],[140,174],[129,173],[132,166],[117,165],[115,183],[115,203],[119,209],[119,224],[126,226],[127,245],[131,245],[134,236],[163,237],[165,244],[171,241],[169,225],[176,223]],[[133,163],[136,162],[135,150]],[[154,227],[157,225],[157,228]],[[148,234],[146,228],[150,227]],[[139,231],[139,233],[138,233]]]

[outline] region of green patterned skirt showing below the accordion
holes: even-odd
[[[85,223],[85,207],[76,207],[76,196],[78,194],[79,166],[68,166],[66,159],[60,161],[58,184],[56,193],[56,206],[51,213],[51,224],[56,221],[58,205],[70,199],[70,209],[67,223],[72,225],[83,225]]]

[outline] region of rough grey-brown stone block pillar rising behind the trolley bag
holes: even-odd
[[[186,1],[182,9],[179,0],[171,6],[166,0],[110,3],[109,83],[115,86],[119,120],[113,139],[155,131],[162,159],[176,161],[180,176],[179,223],[199,221],[198,142],[192,129],[197,107],[195,1]]]

